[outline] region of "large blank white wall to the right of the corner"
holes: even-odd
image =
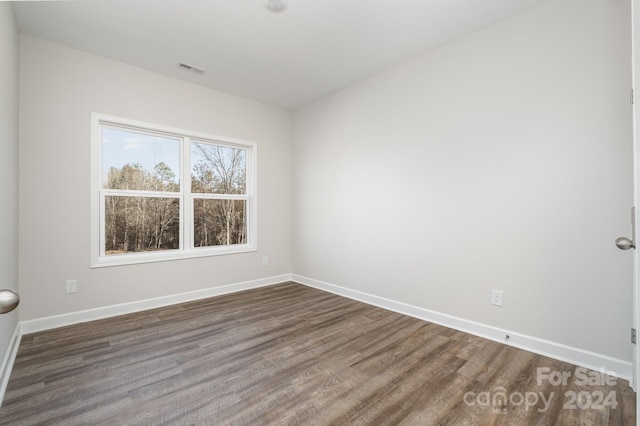
[[[296,111],[294,273],[631,361],[628,3],[550,0]]]

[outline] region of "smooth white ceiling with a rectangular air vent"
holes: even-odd
[[[22,32],[295,109],[543,0],[288,0],[283,13],[263,1],[13,5]]]

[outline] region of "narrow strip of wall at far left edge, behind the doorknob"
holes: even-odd
[[[11,290],[18,290],[18,54],[13,7],[0,2],[0,289]],[[0,315],[0,364],[17,323],[18,310]]]

